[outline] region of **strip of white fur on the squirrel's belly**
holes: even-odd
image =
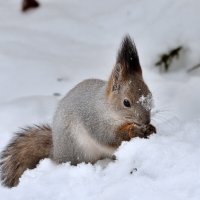
[[[111,157],[113,155],[115,148],[99,144],[89,135],[82,124],[77,124],[72,130],[86,159],[95,161],[102,158],[102,156]]]

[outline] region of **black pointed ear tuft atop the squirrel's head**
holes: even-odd
[[[142,73],[135,43],[129,35],[126,35],[122,40],[116,64],[122,66],[125,74]]]

